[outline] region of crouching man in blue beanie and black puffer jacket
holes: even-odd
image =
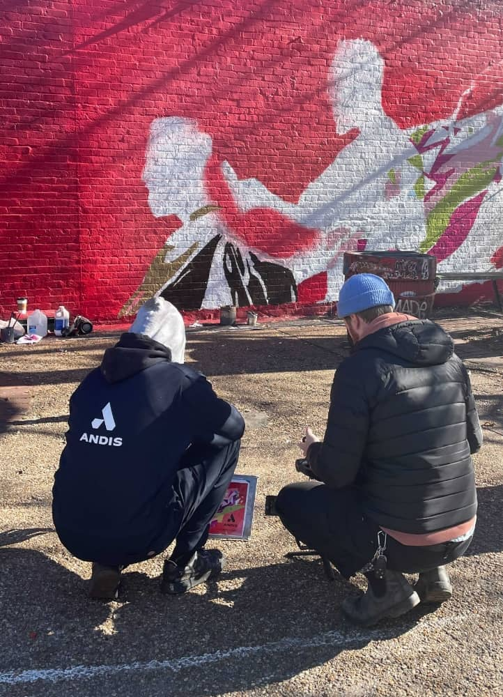
[[[307,429],[299,443],[318,482],[290,484],[276,502],[297,540],[346,579],[365,573],[366,593],[343,611],[366,626],[451,596],[445,565],[470,545],[477,513],[470,377],[440,326],[393,309],[378,276],[343,285],[353,352],[334,376],[323,441]],[[403,573],[417,572],[413,587]]]

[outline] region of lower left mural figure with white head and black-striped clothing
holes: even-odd
[[[143,282],[121,310],[160,295],[185,309],[280,305],[296,299],[291,273],[240,244],[208,196],[205,169],[212,139],[194,119],[157,118],[150,127],[143,178],[155,217],[183,223],[158,252]]]

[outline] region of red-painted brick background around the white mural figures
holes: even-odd
[[[3,312],[26,293],[31,308],[118,316],[180,229],[154,217],[141,178],[160,117],[194,119],[212,138],[206,190],[243,256],[288,266],[309,224],[267,206],[242,215],[218,169],[228,161],[299,201],[358,135],[337,135],[327,91],[342,39],[376,46],[398,129],[451,118],[463,93],[458,119],[500,118],[503,102],[499,0],[5,0],[0,36]],[[326,292],[313,268],[296,277],[300,302]]]

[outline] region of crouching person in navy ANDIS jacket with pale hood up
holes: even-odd
[[[93,598],[118,597],[123,567],[175,539],[162,592],[183,593],[224,567],[204,545],[245,422],[183,365],[184,351],[182,317],[152,298],[70,398],[52,514],[66,549],[93,562]]]

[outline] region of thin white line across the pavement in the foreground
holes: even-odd
[[[458,624],[460,620],[469,618],[471,615],[457,615],[455,618],[438,618],[429,622],[419,622],[408,631],[422,629],[432,629],[436,626]],[[238,646],[226,651],[215,651],[214,653],[201,654],[201,656],[185,656],[178,659],[166,661],[134,661],[130,664],[119,664],[115,666],[72,666],[71,668],[40,668],[31,671],[8,671],[0,673],[0,684],[19,684],[46,680],[49,682],[59,682],[60,680],[75,680],[79,678],[100,677],[102,675],[115,675],[118,673],[135,671],[171,671],[179,673],[187,669],[199,668],[210,664],[217,664],[227,659],[246,659],[256,654],[282,653],[295,650],[297,653],[311,648],[321,646],[336,646],[338,648],[362,642],[391,639],[396,637],[396,627],[394,629],[372,629],[370,631],[352,631],[350,634],[343,634],[341,631],[325,631],[310,638],[286,637],[279,641],[272,641],[258,646]]]

